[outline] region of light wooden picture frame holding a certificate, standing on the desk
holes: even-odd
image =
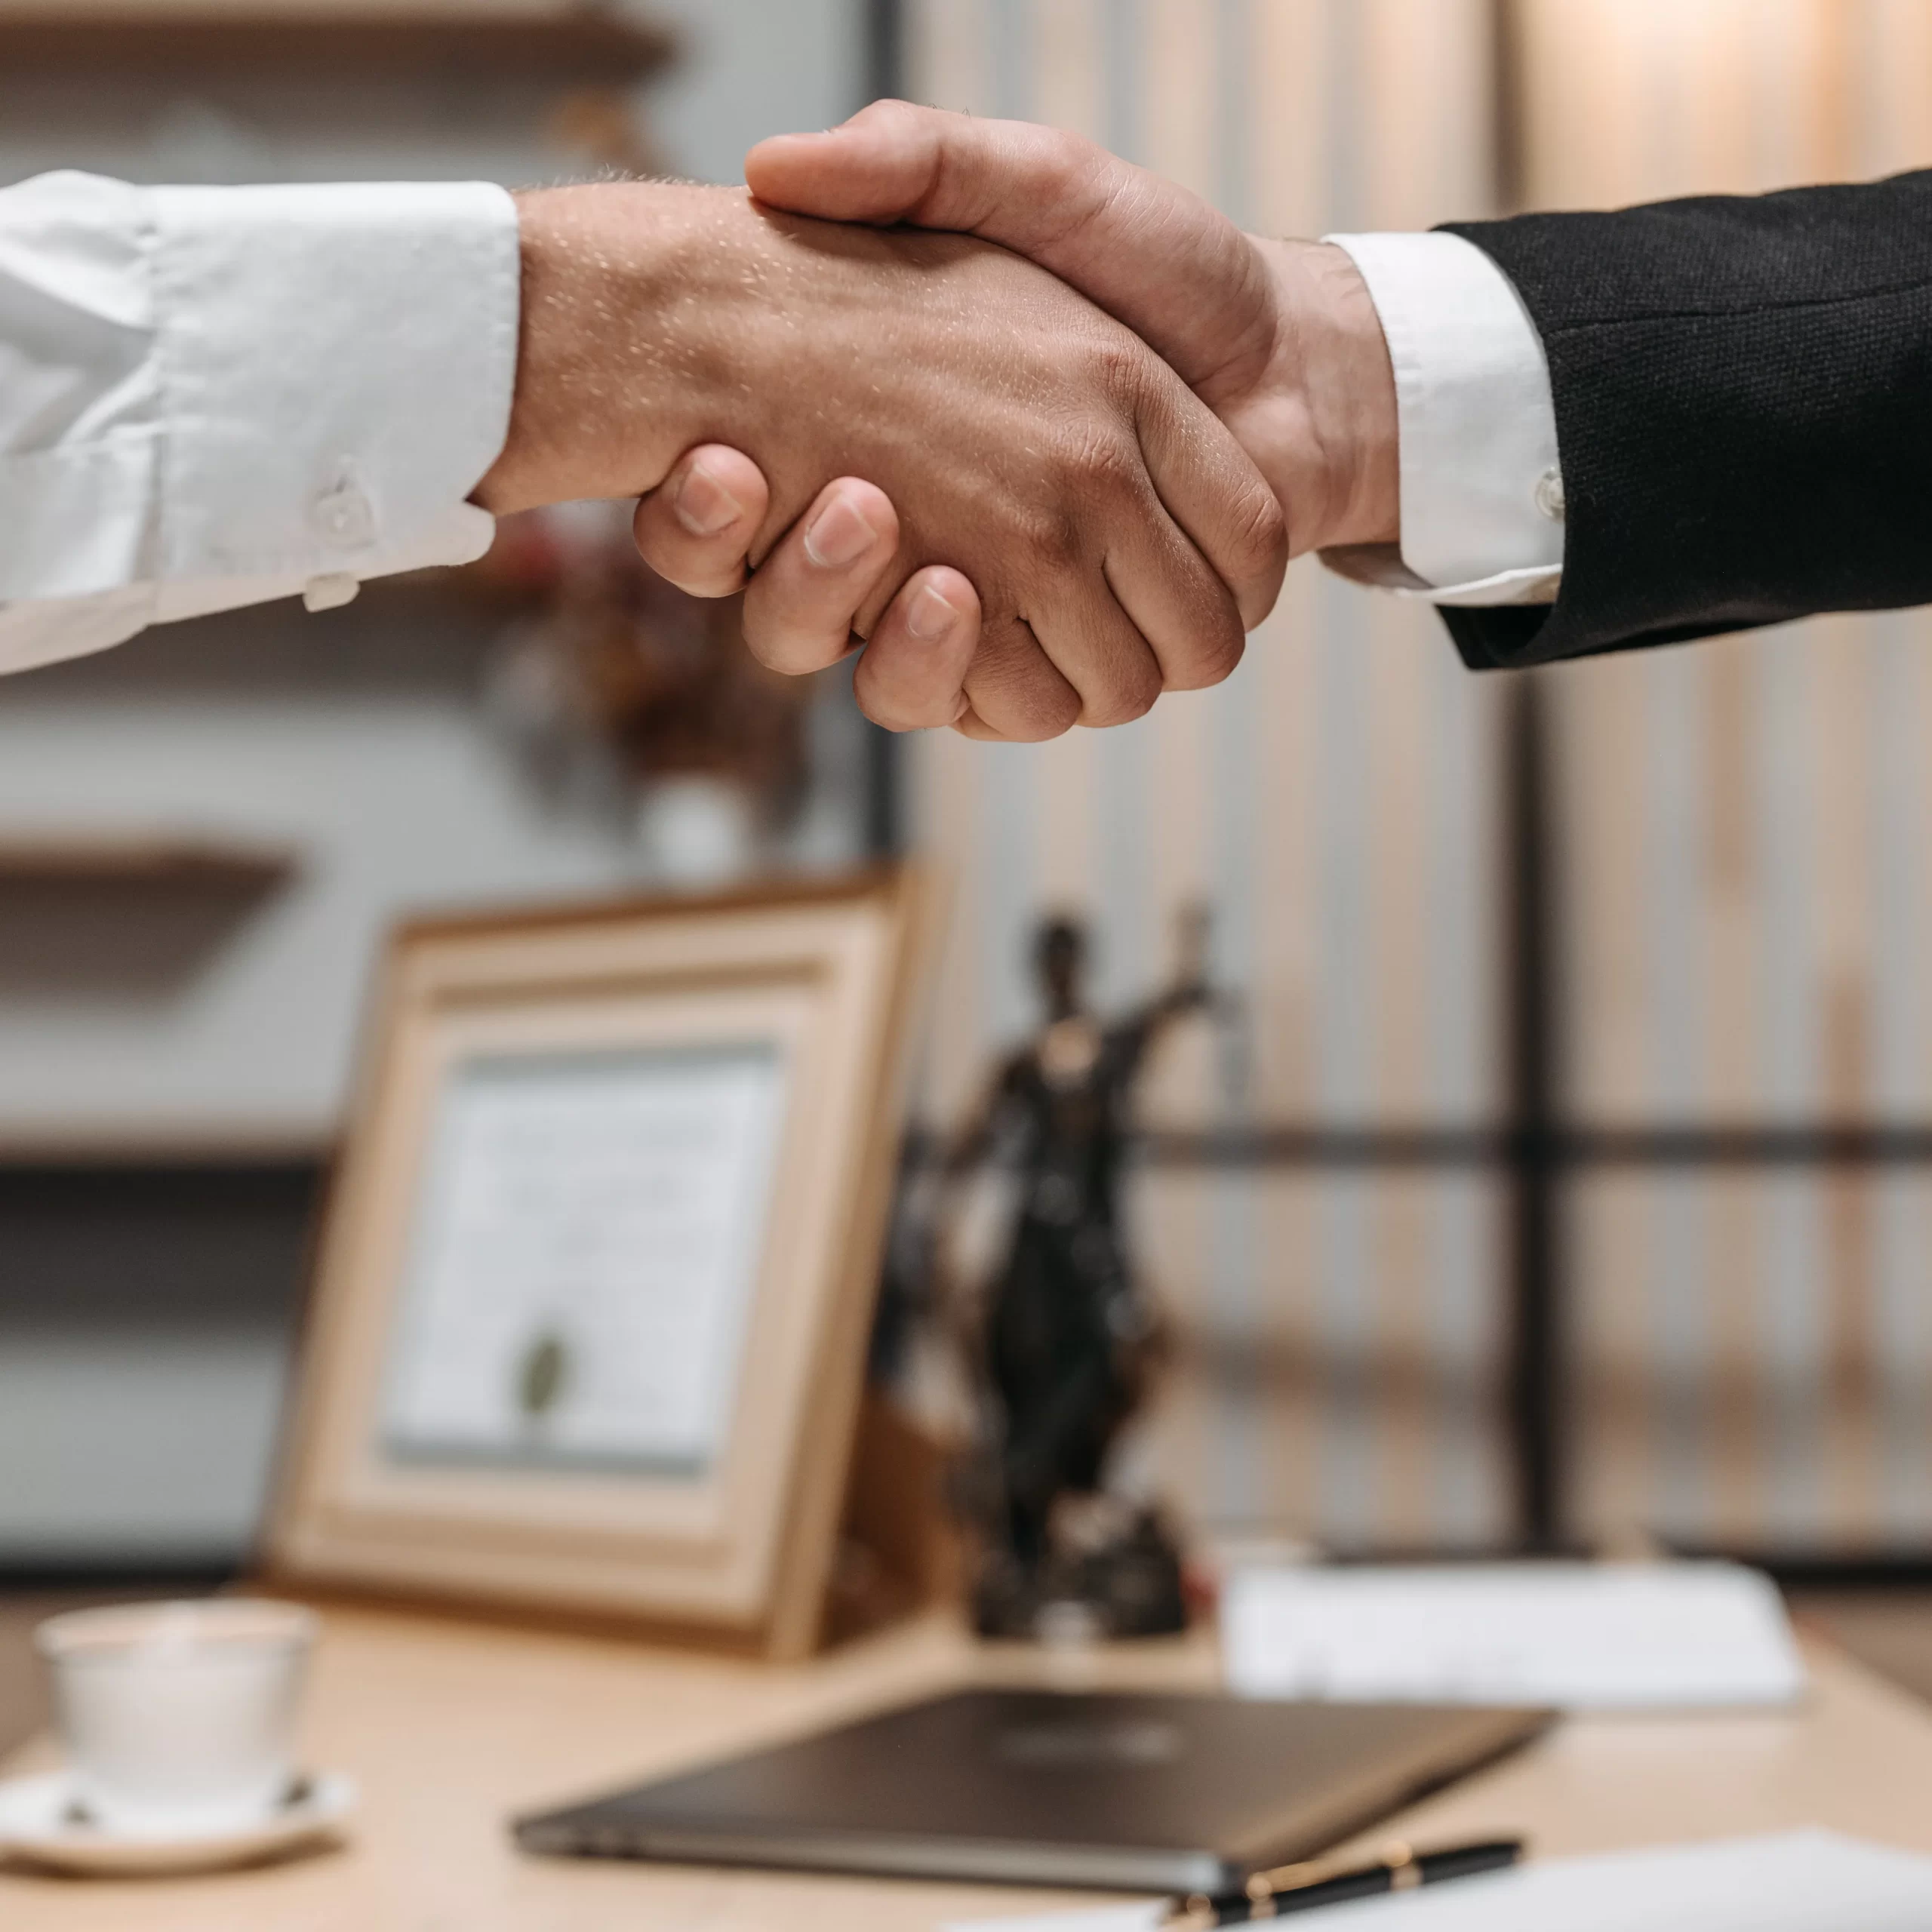
[[[396,933],[276,1577],[819,1640],[927,908],[891,867]]]

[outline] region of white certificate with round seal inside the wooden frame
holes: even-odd
[[[784,1057],[489,1057],[444,1084],[390,1358],[406,1461],[701,1470],[738,1378]]]

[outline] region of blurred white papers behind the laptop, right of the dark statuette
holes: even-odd
[[[1238,1569],[1221,1652],[1242,1696],[1690,1710],[1804,1689],[1776,1586],[1737,1563]]]

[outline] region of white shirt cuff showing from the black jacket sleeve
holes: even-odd
[[[1563,471],[1542,336],[1507,274],[1451,234],[1327,236],[1368,284],[1395,369],[1401,547],[1325,551],[1432,603],[1549,603]]]

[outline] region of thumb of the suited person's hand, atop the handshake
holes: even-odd
[[[1200,195],[1059,128],[877,100],[829,133],[759,141],[759,201],[844,222],[951,228],[1026,255],[1103,307],[1208,402],[1260,377],[1273,286]]]

